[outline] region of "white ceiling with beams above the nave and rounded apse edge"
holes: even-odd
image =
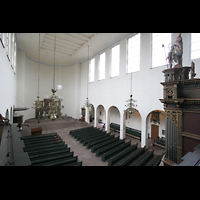
[[[99,51],[129,35],[128,33],[56,33],[56,65],[83,62]],[[54,64],[55,33],[40,33],[40,61]],[[39,33],[17,33],[18,49],[38,61]]]

